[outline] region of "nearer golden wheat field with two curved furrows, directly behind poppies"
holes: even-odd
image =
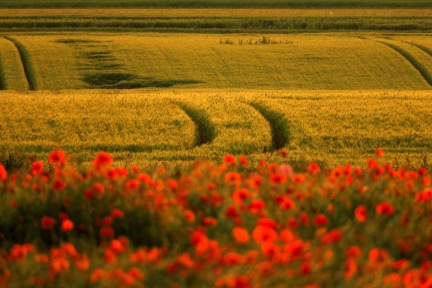
[[[393,165],[416,167],[431,161],[431,100],[428,91],[9,92],[0,149],[38,159],[63,149],[84,165],[103,150],[147,168],[227,153],[278,161],[284,150],[302,169],[362,165],[382,147]]]

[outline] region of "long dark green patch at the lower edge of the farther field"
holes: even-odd
[[[83,78],[95,89],[137,89],[147,87],[171,87],[174,85],[197,84],[195,80],[156,80],[130,73],[93,73]]]

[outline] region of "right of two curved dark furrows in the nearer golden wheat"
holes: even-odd
[[[257,110],[269,123],[272,133],[273,148],[279,150],[289,143],[289,125],[282,113],[270,110],[264,105],[256,102],[248,103]]]

